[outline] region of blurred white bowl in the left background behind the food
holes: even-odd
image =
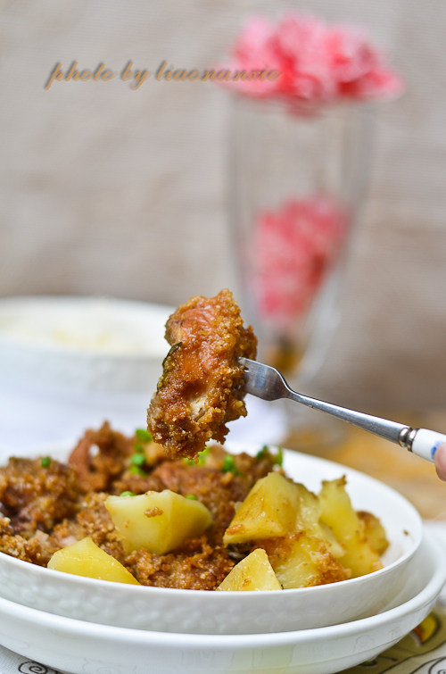
[[[99,297],[0,300],[0,438],[13,450],[113,420],[145,424],[171,308]]]

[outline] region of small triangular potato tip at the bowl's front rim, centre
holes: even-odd
[[[251,592],[253,590],[281,590],[282,587],[269,563],[267,553],[258,548],[238,562],[217,589]]]

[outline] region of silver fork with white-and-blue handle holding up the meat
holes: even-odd
[[[446,442],[446,436],[434,430],[414,429],[396,421],[381,419],[364,412],[355,412],[346,407],[340,407],[317,398],[310,398],[309,395],[297,393],[288,386],[283,375],[270,365],[244,357],[240,357],[238,362],[244,366],[245,392],[256,395],[263,400],[288,398],[306,407],[311,407],[313,410],[326,412],[333,417],[347,421],[353,426],[358,426],[359,429],[368,430],[376,436],[397,443],[408,449],[409,452],[413,452],[430,462],[434,462],[436,450],[442,443]]]

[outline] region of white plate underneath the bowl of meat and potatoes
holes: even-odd
[[[333,674],[396,644],[430,611],[445,581],[444,553],[429,534],[417,553],[420,587],[386,612],[328,628],[207,636],[112,628],[0,599],[0,642],[70,674]],[[415,583],[417,586],[417,583]]]

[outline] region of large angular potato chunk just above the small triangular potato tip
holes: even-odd
[[[225,545],[293,532],[300,499],[296,485],[280,473],[268,473],[252,487],[225,532]]]

